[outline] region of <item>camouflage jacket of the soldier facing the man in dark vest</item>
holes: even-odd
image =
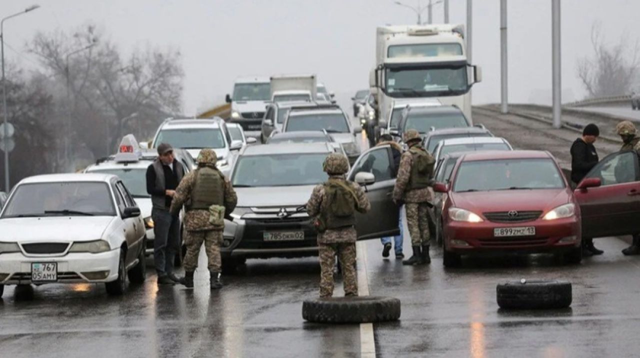
[[[189,172],[180,181],[175,195],[171,202],[171,213],[177,214],[182,205],[191,198],[191,192],[195,187],[197,172],[195,170]],[[234,209],[238,201],[236,191],[227,177],[225,177],[225,215],[229,215]],[[209,224],[208,210],[189,210],[184,216],[184,228],[188,231],[212,231],[214,227]],[[220,231],[221,229],[218,229]]]

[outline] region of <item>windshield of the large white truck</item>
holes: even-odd
[[[387,94],[391,97],[440,97],[468,92],[467,66],[388,68]]]

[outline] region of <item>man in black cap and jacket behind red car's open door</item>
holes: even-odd
[[[598,152],[593,143],[600,136],[600,129],[593,123],[582,129],[582,136],[571,145],[571,181],[573,188],[598,164]],[[604,251],[593,246],[592,238],[582,239],[582,256],[600,255]]]

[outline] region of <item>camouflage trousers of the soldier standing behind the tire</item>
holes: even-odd
[[[344,279],[344,294],[358,295],[358,281],[356,279],[356,244],[328,243],[319,244],[320,255],[320,297],[333,296],[333,265],[338,256],[342,266]]]

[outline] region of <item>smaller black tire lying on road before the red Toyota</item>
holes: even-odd
[[[562,309],[572,302],[572,286],[566,281],[505,282],[496,294],[502,309]]]

